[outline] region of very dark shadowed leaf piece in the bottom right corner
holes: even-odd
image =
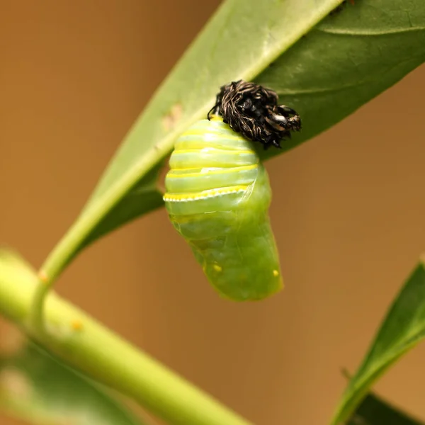
[[[424,425],[380,397],[368,394],[346,425]]]

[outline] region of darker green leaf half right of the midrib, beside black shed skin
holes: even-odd
[[[346,118],[425,62],[425,2],[356,0],[328,16],[256,81],[302,117],[288,150]],[[268,149],[263,157],[281,152]]]

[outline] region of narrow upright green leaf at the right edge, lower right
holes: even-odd
[[[342,424],[373,382],[425,336],[425,268],[419,263],[382,322],[363,363],[351,378],[332,425]]]

